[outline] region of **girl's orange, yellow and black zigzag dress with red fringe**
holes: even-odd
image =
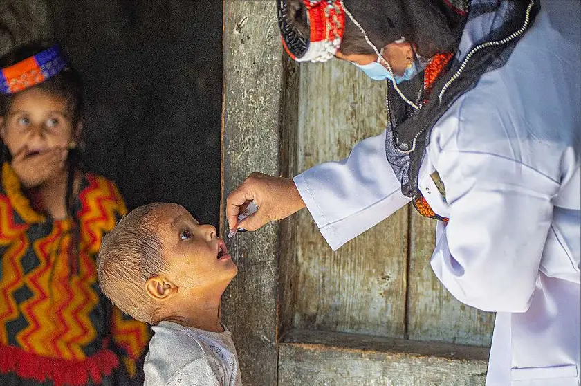
[[[147,326],[100,293],[101,238],[127,212],[116,185],[84,174],[77,196],[78,263],[71,221],[33,210],[8,163],[0,187],[0,385],[119,385],[136,374]]]

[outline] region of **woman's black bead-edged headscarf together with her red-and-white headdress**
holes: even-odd
[[[469,12],[474,3],[477,6]],[[294,9],[297,4],[306,8],[306,17]],[[385,151],[403,195],[412,198],[424,216],[445,220],[433,212],[418,189],[419,170],[432,128],[485,71],[504,65],[535,19],[538,0],[277,0],[277,6],[284,48],[298,62],[324,62],[342,44],[345,55],[375,53],[392,73],[378,48],[401,37],[413,43],[418,55],[430,59],[421,78],[400,86],[388,83]],[[342,16],[340,27],[331,17],[335,9]],[[495,13],[496,26],[485,37],[490,41],[479,42],[462,61],[454,57],[465,24],[477,24],[474,20],[482,15]],[[349,19],[347,24],[344,15]],[[329,33],[333,26],[340,30],[336,34],[340,39]],[[364,42],[356,42],[357,37]],[[317,42],[330,48],[324,50]],[[438,186],[436,177],[432,176]]]

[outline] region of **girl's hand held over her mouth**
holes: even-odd
[[[28,147],[24,145],[12,158],[12,169],[26,188],[37,187],[62,171],[68,150],[64,147],[53,147],[40,154],[26,156]]]

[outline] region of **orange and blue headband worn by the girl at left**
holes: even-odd
[[[57,75],[68,66],[59,46],[52,46],[37,55],[0,71],[0,93],[14,94],[36,86]]]

